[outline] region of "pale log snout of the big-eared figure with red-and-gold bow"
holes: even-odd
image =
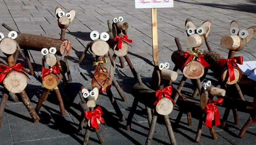
[[[186,38],[186,44],[190,48],[200,47],[204,42],[204,36],[193,34]]]

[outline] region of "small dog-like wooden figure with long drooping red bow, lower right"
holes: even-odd
[[[194,102],[180,94],[179,99],[177,100],[177,105],[180,107],[180,112],[176,118],[176,126],[178,126],[180,119],[183,113],[193,114],[194,118],[199,119],[198,130],[196,135],[196,142],[200,141],[203,123],[209,128],[210,134],[213,139],[217,139],[217,135],[215,133],[213,127],[214,125],[220,125],[220,115],[218,108],[215,104],[222,104],[223,99],[218,99],[214,101],[214,96],[225,96],[226,91],[224,89],[211,87],[211,81],[207,81],[203,84],[203,88],[201,92],[200,103]],[[191,118],[191,116],[190,116]],[[188,119],[188,124],[192,125],[191,119]]]

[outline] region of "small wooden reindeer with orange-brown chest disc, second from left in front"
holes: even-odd
[[[58,99],[60,106],[60,114],[65,115],[65,108],[63,104],[63,100],[61,98],[61,94],[58,88],[61,80],[63,79],[63,75],[68,70],[67,65],[64,63],[57,63],[58,56],[55,55],[56,48],[51,47],[49,49],[43,48],[41,53],[44,55],[42,58],[42,84],[44,86],[43,92],[38,100],[36,105],[36,112],[40,111],[40,108],[48,97],[48,94],[51,89],[54,89],[56,97]],[[49,66],[49,69],[45,68],[44,62]],[[57,63],[57,64],[56,64]]]

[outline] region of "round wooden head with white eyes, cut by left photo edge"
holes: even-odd
[[[17,43],[14,40],[17,38],[17,32],[11,31],[8,33],[8,37],[4,38],[4,34],[0,32],[0,50],[5,54],[13,54],[17,50]]]

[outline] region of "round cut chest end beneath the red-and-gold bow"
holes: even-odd
[[[183,74],[190,79],[201,78],[204,74],[204,66],[198,61],[193,61],[190,65],[184,67]]]

